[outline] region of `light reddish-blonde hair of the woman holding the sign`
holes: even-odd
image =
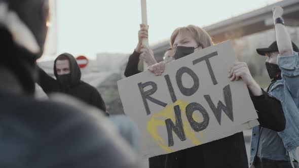
[[[214,45],[212,38],[204,29],[195,25],[188,25],[186,27],[176,28],[173,31],[170,37],[171,48],[173,48],[174,40],[179,32],[191,32],[198,46],[201,46],[203,49]]]

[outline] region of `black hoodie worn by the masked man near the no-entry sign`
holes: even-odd
[[[38,84],[41,86],[44,92],[47,95],[55,92],[64,93],[76,97],[89,105],[99,108],[102,111],[106,111],[105,103],[97,89],[81,80],[81,70],[76,59],[67,53],[64,53],[63,55],[66,56],[70,62],[70,86],[66,87],[60,85],[56,79],[52,78],[43,69],[38,67],[40,78],[38,80]],[[56,60],[54,61],[54,74],[57,78]]]

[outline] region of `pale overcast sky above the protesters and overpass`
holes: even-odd
[[[57,1],[57,0],[56,0]],[[278,0],[147,0],[149,43],[169,38],[179,26],[207,26]],[[141,23],[140,0],[59,0],[58,53],[95,58],[131,53]]]

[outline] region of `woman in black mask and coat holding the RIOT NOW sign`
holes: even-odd
[[[170,45],[175,51],[174,58],[180,59],[195,51],[212,46],[213,42],[203,29],[189,25],[174,30]],[[161,62],[148,67],[148,70],[156,75],[161,75],[165,66],[167,64]],[[250,76],[248,76],[248,81],[252,78]],[[254,107],[259,111],[257,112],[259,123],[263,127],[275,131],[284,130],[285,118],[280,102],[256,85],[248,88],[252,93]],[[264,106],[260,106],[260,104]],[[167,155],[165,167],[248,167],[243,133],[170,153]]]

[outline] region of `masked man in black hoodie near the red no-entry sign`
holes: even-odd
[[[38,69],[38,84],[47,95],[55,92],[64,93],[106,111],[105,102],[97,89],[81,80],[81,70],[72,55],[64,53],[55,59],[54,75],[56,79],[40,67]],[[108,113],[105,114],[108,115]]]

